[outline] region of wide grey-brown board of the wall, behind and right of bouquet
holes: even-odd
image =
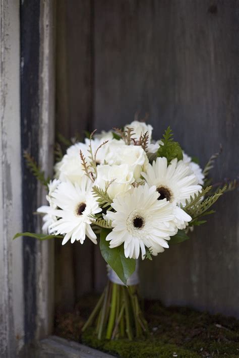
[[[216,182],[238,175],[237,1],[94,2],[94,128],[150,113],[204,165],[222,144]],[[192,239],[141,265],[146,297],[239,316],[238,196]]]

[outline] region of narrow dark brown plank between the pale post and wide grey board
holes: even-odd
[[[91,129],[92,118],[92,27],[91,2],[57,1],[56,42],[56,132],[71,138]],[[61,310],[73,307],[76,299],[92,290],[92,243],[56,247],[56,301]],[[66,261],[65,250],[68,251]],[[57,272],[71,271],[73,279]],[[69,276],[70,277],[70,276]],[[71,284],[71,287],[70,287]],[[67,291],[67,304],[61,297]]]

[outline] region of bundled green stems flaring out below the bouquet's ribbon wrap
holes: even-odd
[[[124,286],[108,280],[100,299],[85,323],[95,325],[98,339],[140,338],[148,325],[140,308],[138,285]]]

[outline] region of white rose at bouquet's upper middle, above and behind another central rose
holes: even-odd
[[[149,162],[141,146],[126,145],[124,143],[118,146],[114,145],[114,147],[109,145],[105,160],[109,165],[128,164],[134,173],[135,180],[140,178],[141,171],[146,169]]]

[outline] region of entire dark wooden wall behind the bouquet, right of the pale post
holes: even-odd
[[[204,165],[223,147],[216,182],[238,176],[236,0],[57,2],[56,130],[110,129],[150,113]],[[189,242],[141,263],[145,297],[239,316],[238,193]],[[56,245],[56,304],[69,309],[105,284],[99,248]]]

